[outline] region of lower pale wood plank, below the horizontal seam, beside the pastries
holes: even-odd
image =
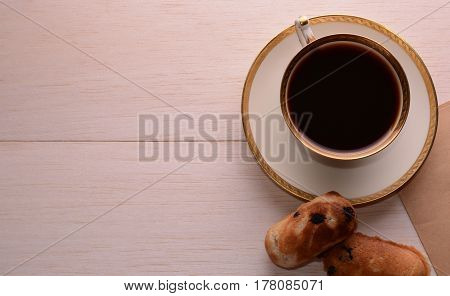
[[[243,158],[246,143],[147,147],[175,151],[175,145],[184,155],[217,148],[218,157],[195,159],[11,274],[324,274],[319,262],[297,271],[270,263],[265,232],[299,202]],[[174,155],[139,162],[136,143],[1,143],[0,273],[179,166]],[[397,197],[358,215],[362,232],[375,229],[423,250]]]

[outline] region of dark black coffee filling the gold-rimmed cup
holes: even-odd
[[[308,52],[287,86],[288,111],[309,140],[334,150],[363,149],[396,121],[401,89],[397,74],[378,52],[335,41]],[[311,112],[309,125],[298,121]]]

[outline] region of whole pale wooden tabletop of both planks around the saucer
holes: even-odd
[[[323,275],[265,254],[299,202],[243,161],[239,120],[206,140],[167,128],[144,143],[157,159],[138,157],[139,114],[239,114],[253,59],[305,13],[402,31],[449,99],[444,0],[0,0],[0,274]],[[173,152],[211,147],[214,161]],[[361,231],[423,250],[398,196],[358,213]]]

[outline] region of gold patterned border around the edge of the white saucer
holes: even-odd
[[[355,23],[359,25],[363,25],[366,27],[369,27],[373,30],[376,30],[386,36],[388,36],[391,40],[393,40],[397,45],[399,45],[407,54],[408,56],[414,61],[415,65],[417,66],[424,82],[427,88],[428,93],[428,100],[430,103],[430,121],[429,121],[429,127],[428,127],[428,133],[425,140],[425,143],[422,147],[422,150],[417,157],[414,164],[408,169],[408,171],[403,174],[397,181],[392,183],[391,185],[387,186],[386,188],[372,193],[370,195],[366,195],[357,199],[352,199],[351,202],[355,206],[361,206],[361,205],[368,205],[371,203],[374,203],[376,201],[380,201],[392,194],[395,194],[398,192],[408,181],[411,180],[411,178],[417,173],[417,171],[420,169],[422,164],[424,163],[425,159],[427,158],[431,147],[434,142],[434,138],[436,136],[436,130],[437,130],[437,121],[438,121],[438,109],[437,109],[437,97],[436,97],[436,91],[434,89],[433,81],[431,80],[430,73],[428,72],[428,69],[426,68],[424,62],[419,57],[417,52],[408,44],[406,41],[404,41],[401,37],[399,37],[397,34],[390,31],[385,26],[378,24],[377,22],[356,17],[356,16],[350,16],[350,15],[324,15],[324,16],[318,16],[313,17],[309,19],[310,24],[319,24],[319,23],[325,23],[325,22],[345,22],[345,23]],[[256,162],[260,165],[263,172],[278,186],[280,186],[283,190],[290,193],[294,197],[300,199],[300,200],[312,200],[316,197],[316,195],[305,192],[303,190],[298,189],[295,186],[292,186],[290,183],[288,183],[286,180],[284,180],[280,175],[278,175],[271,167],[270,165],[264,160],[264,158],[261,155],[261,152],[259,151],[258,147],[256,146],[255,140],[253,138],[252,131],[250,129],[250,122],[249,122],[249,114],[248,114],[248,103],[249,103],[249,97],[250,97],[250,89],[253,83],[253,79],[255,78],[256,72],[258,71],[259,66],[261,65],[262,61],[265,59],[265,57],[271,52],[271,50],[278,45],[283,39],[285,39],[287,36],[295,33],[295,27],[290,26],[283,30],[281,33],[279,33],[277,36],[275,36],[258,54],[258,56],[255,58],[252,66],[250,67],[250,70],[248,72],[247,78],[245,80],[244,89],[242,92],[242,105],[241,105],[241,112],[242,112],[242,122],[243,122],[243,128],[244,133],[247,138],[248,145],[250,147],[250,150],[252,151]]]

